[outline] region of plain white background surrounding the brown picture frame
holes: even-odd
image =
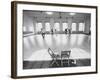
[[[100,10],[100,0],[31,0],[37,2],[98,5]],[[0,0],[0,80],[14,80],[10,78],[11,68],[11,0]],[[100,11],[99,13],[100,14]],[[98,16],[100,22],[100,16]],[[100,26],[100,24],[98,25]],[[98,27],[100,30],[100,27]],[[100,34],[100,31],[98,31]],[[98,47],[100,46],[100,37],[98,38]],[[100,48],[100,47],[99,47]],[[100,51],[100,50],[99,50]],[[98,52],[99,53],[99,52]],[[98,54],[100,61],[100,54]],[[100,68],[100,62],[98,66]],[[100,80],[100,69],[98,74],[73,75],[46,78],[30,78],[27,80]],[[22,79],[24,80],[24,79]]]

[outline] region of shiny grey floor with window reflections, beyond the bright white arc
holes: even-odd
[[[61,50],[80,48],[90,54],[89,39],[89,36],[85,34],[71,34],[70,36],[66,34],[46,34],[44,38],[41,34],[27,36],[23,39],[24,60],[29,59],[37,51],[48,49],[48,47],[58,52]]]

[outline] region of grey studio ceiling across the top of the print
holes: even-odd
[[[52,15],[46,14],[46,11],[32,11],[32,10],[24,10],[24,14],[27,14],[33,18],[86,18],[90,17],[89,13],[75,13],[75,15],[70,15],[71,12],[53,12]]]

